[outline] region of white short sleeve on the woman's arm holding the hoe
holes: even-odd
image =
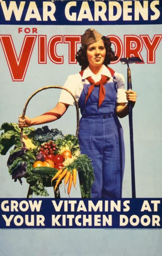
[[[117,83],[117,103],[127,103],[127,97],[125,93],[125,81],[124,76],[120,73],[114,74],[115,81]]]

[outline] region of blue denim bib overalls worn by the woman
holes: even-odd
[[[79,98],[81,120],[79,145],[81,154],[92,159],[94,184],[92,198],[122,197],[124,170],[123,129],[116,116],[116,82],[107,82],[106,96],[98,108],[99,86],[95,86],[86,104],[85,98],[90,83],[83,85]]]

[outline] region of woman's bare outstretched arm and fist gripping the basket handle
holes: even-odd
[[[58,102],[55,108],[47,111],[42,115],[39,115],[38,117],[34,117],[30,119],[29,117],[25,116],[25,119],[22,119],[22,115],[21,115],[19,117],[18,126],[19,128],[22,128],[22,127],[29,127],[32,125],[44,124],[47,122],[55,121],[60,117],[62,117],[62,115],[68,109],[68,106],[69,106],[68,104]]]

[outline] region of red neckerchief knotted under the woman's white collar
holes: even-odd
[[[115,71],[109,67],[107,67],[107,69],[109,69],[111,76],[114,76]],[[83,76],[83,72],[84,70],[81,70],[81,72],[79,72],[79,74],[81,76]],[[105,85],[105,83],[107,83],[110,80],[110,77],[105,76],[105,75],[101,75],[101,80],[99,80],[99,82],[94,82],[94,80],[92,79],[91,76],[86,78],[88,80],[88,82],[91,84],[90,87],[88,88],[88,93],[86,95],[86,99],[85,99],[85,103],[87,102],[90,94],[92,93],[93,89],[95,86],[99,86],[99,99],[98,99],[98,107],[101,106],[103,100],[105,99],[106,96],[106,91],[105,91],[105,87],[103,85]]]

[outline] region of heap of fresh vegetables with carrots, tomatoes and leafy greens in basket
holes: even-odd
[[[74,135],[63,135],[58,129],[48,126],[34,129],[24,128],[23,145],[20,142],[20,128],[16,123],[4,123],[0,130],[0,154],[10,150],[7,166],[12,179],[22,178],[30,184],[35,195],[48,196],[45,187],[54,186],[56,191],[64,179],[64,187],[70,195],[72,183],[75,187],[78,171],[81,195],[91,197],[94,181],[91,160],[80,153],[78,140]]]

